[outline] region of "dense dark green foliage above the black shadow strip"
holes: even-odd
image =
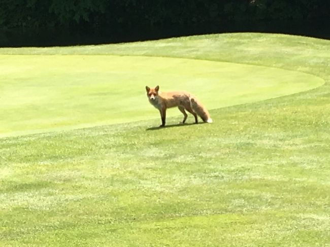
[[[329,13],[330,2],[318,0],[2,0],[0,29],[185,27],[244,20],[325,20]]]

